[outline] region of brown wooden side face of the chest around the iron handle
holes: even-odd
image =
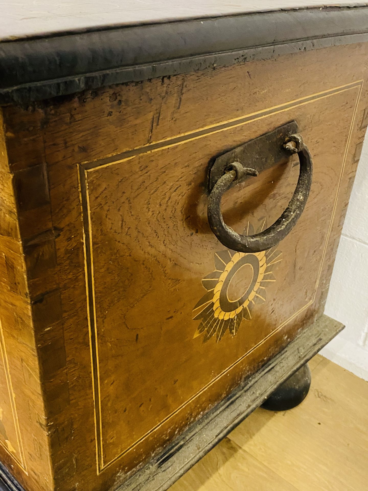
[[[49,460],[27,443],[31,475],[14,466],[22,484],[118,485],[322,313],[368,123],[367,60],[357,44],[2,108],[32,316],[7,325],[4,340],[21,329],[33,336],[42,428],[20,382],[14,393],[20,433],[37,426],[48,438],[54,479],[37,481]],[[267,252],[272,281],[259,282],[237,334],[227,326],[204,343],[205,333],[193,337],[193,309],[208,292],[202,279],[221,273],[228,254],[206,221],[208,162],[291,119],[314,156],[309,203]],[[229,192],[228,223],[241,231],[275,220],[295,187],[294,163]],[[271,264],[276,251],[282,261]],[[230,298],[252,283],[250,267],[242,271]]]

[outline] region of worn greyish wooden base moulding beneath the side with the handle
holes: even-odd
[[[343,329],[326,315],[136,471],[117,491],[165,491]]]

